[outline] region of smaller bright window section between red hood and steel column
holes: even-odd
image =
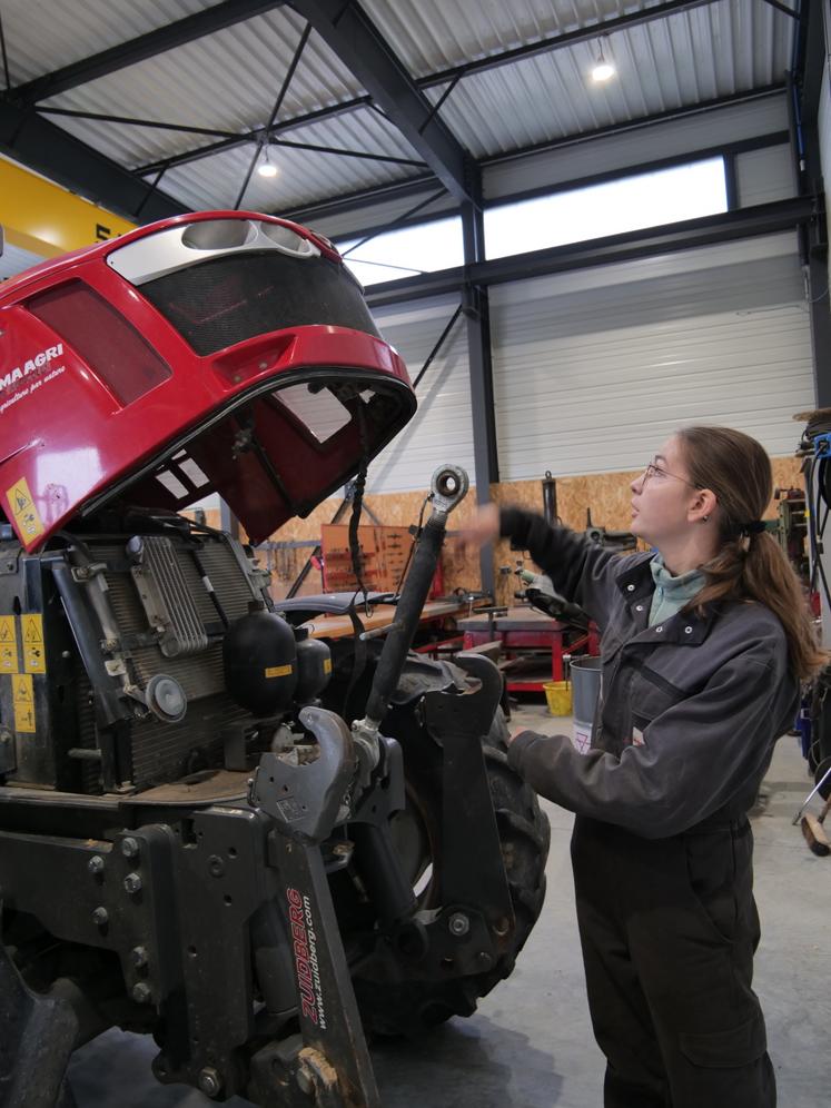
[[[458,216],[385,231],[363,246],[359,243],[360,239],[349,239],[338,243],[337,248],[365,287],[464,265]]]

